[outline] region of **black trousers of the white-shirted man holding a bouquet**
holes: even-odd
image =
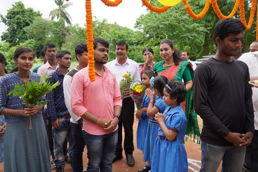
[[[118,140],[115,155],[122,155],[122,127],[125,130],[124,149],[125,155],[133,154],[133,121],[134,121],[134,101],[131,97],[124,98],[122,102],[121,121],[118,122]]]

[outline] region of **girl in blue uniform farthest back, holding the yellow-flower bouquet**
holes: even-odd
[[[142,79],[141,79],[141,85],[145,85],[146,89],[150,89],[153,91],[153,87],[150,85],[149,80],[152,77],[155,77],[156,74],[151,71],[147,70],[142,73]],[[147,116],[147,109],[149,106],[149,97],[145,94],[143,97],[143,102],[141,103],[141,109],[136,112],[136,119],[138,119],[138,127],[136,131],[136,142],[137,142],[137,148],[144,153],[144,143],[145,138],[147,134],[147,128],[149,124],[149,117]],[[146,167],[147,166],[147,167]],[[147,165],[145,168],[150,168],[150,161],[147,162]]]

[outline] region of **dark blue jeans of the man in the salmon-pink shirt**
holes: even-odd
[[[117,130],[104,135],[92,135],[82,130],[87,146],[87,172],[112,172],[112,160],[117,146]]]

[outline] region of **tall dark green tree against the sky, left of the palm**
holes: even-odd
[[[3,22],[8,29],[1,36],[2,41],[7,41],[10,46],[15,46],[27,40],[24,27],[30,26],[35,17],[41,17],[39,11],[35,12],[33,8],[25,8],[21,1],[12,4],[12,8],[8,10],[4,17],[0,15],[1,22]]]

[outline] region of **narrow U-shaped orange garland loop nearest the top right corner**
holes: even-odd
[[[249,30],[254,22],[254,14],[255,14],[255,8],[256,8],[256,0],[252,0],[252,5],[251,5],[251,12],[250,12],[250,18],[248,25],[246,25],[246,17],[245,17],[245,9],[244,9],[244,0],[241,0],[240,3],[240,17],[241,17],[241,22],[243,25],[246,27],[246,30]]]

